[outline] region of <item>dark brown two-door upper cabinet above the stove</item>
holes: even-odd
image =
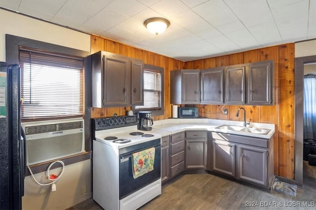
[[[109,52],[92,54],[92,107],[143,105],[143,65]]]

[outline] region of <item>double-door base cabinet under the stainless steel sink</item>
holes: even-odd
[[[274,181],[273,138],[210,132],[211,171],[270,188]]]

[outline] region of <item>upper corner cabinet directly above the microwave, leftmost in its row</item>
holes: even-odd
[[[171,71],[170,86],[171,104],[200,103],[200,76],[198,69]]]

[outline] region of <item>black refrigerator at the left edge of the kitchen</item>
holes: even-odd
[[[21,70],[0,62],[0,210],[22,209],[25,152],[21,129]]]

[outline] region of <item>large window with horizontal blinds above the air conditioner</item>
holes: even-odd
[[[82,116],[83,58],[19,49],[22,119]]]

